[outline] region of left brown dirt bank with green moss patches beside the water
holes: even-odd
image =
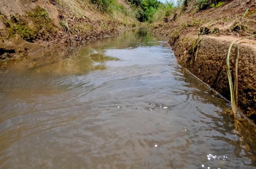
[[[90,1],[1,1],[0,65],[45,46],[113,36],[139,25],[124,13],[102,9]]]

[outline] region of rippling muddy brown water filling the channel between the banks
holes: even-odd
[[[0,81],[0,168],[256,168],[254,125],[146,29],[38,51]]]

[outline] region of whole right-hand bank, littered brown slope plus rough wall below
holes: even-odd
[[[244,17],[245,11],[252,11]],[[226,57],[234,40],[256,34],[256,1],[230,0],[220,7],[173,11],[170,18],[150,25],[152,32],[170,37],[170,45],[183,67],[230,100]],[[239,40],[238,106],[256,122],[256,36]],[[236,44],[230,54],[235,77]]]

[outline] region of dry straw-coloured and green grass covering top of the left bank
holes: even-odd
[[[130,22],[136,22],[135,16],[116,0],[96,0],[96,4],[93,4],[92,0],[53,1],[59,8],[60,16],[62,16],[60,18],[63,19],[79,20],[88,18],[95,22],[98,20],[112,20],[114,22],[128,22],[129,24]]]

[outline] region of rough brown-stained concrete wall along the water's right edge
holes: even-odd
[[[197,37],[179,38],[172,49],[181,66],[230,100],[226,57],[228,47],[235,39],[230,36],[205,36],[197,53],[191,53]],[[238,60],[238,107],[256,122],[256,41],[240,40]],[[234,83],[236,43],[230,54],[230,69]]]

